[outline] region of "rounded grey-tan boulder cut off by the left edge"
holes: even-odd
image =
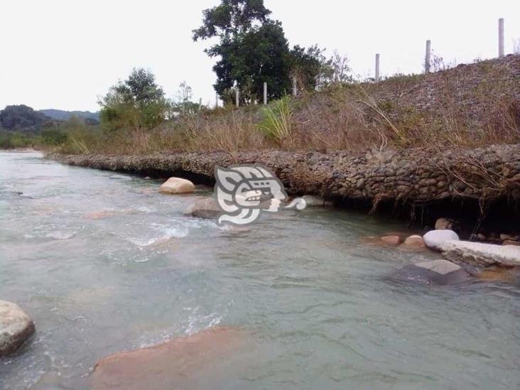
[[[0,357],[16,352],[33,333],[33,320],[15,303],[0,300]]]

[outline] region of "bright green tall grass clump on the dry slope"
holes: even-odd
[[[278,146],[293,144],[293,104],[291,97],[286,95],[261,110],[259,129]]]

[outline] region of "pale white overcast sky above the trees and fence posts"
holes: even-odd
[[[194,99],[215,103],[213,61],[193,43],[202,9],[218,0],[2,0],[0,109],[97,111],[97,97],[132,67],[155,73],[168,97],[180,82]],[[450,63],[494,58],[497,19],[505,18],[505,50],[520,40],[518,0],[265,0],[291,45],[338,50],[355,74],[421,72],[425,41]]]

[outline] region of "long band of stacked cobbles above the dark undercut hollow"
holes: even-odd
[[[260,163],[288,193],[335,200],[427,202],[450,197],[520,199],[520,144],[438,153],[420,149],[363,155],[318,152],[174,153],[152,156],[50,156],[72,166],[212,183],[215,166]]]

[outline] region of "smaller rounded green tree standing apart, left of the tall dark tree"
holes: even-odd
[[[99,118],[107,129],[151,129],[166,119],[168,102],[149,70],[135,69],[110,88],[99,102]]]

